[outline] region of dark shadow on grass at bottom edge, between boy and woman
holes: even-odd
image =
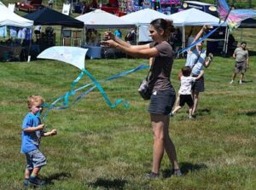
[[[105,180],[97,179],[95,182],[90,182],[89,185],[92,187],[104,187],[106,189],[123,189],[125,187],[126,180],[114,179],[114,180]]]

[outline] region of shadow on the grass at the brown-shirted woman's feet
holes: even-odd
[[[206,164],[191,164],[187,162],[182,162],[179,164],[180,170],[182,171],[183,175],[187,175],[189,172],[195,172],[197,170],[205,170],[207,169]],[[168,178],[172,176],[172,170],[164,170],[163,177]]]

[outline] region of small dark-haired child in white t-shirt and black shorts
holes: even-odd
[[[198,75],[196,78],[193,78],[190,76],[191,68],[189,66],[184,66],[182,68],[182,73],[183,76],[180,78],[180,89],[178,90],[178,94],[180,95],[179,105],[174,108],[174,110],[170,113],[170,116],[172,117],[179,109],[185,105],[185,103],[187,103],[189,106],[189,118],[193,118],[192,110],[194,101],[191,95],[191,87],[195,80],[201,78],[204,75],[204,71],[202,70],[200,75]]]

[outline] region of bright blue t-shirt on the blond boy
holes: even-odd
[[[41,124],[40,118],[33,115],[32,112],[26,114],[22,124],[22,134],[21,134],[21,150],[20,153],[29,153],[39,147],[40,137],[42,131],[37,130],[32,133],[27,133],[24,129],[28,127],[37,127]]]

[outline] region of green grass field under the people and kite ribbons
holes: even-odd
[[[137,94],[147,71],[102,83],[111,101],[125,98],[131,106],[110,108],[98,90],[67,110],[49,112],[42,152],[48,165],[40,172],[42,189],[255,189],[256,57],[242,85],[230,85],[234,60],[216,57],[206,70],[198,117],[187,119],[186,108],[171,121],[171,135],[185,176],[170,178],[166,156],[163,178],[144,179],[152,162],[153,137],[148,101]],[[86,60],[97,78],[134,68],[144,60]],[[184,60],[175,60],[172,83]],[[43,95],[47,102],[63,95],[79,71],[53,60],[0,64],[0,189],[20,189],[26,165],[20,154],[20,124],[27,112],[26,96]],[[236,79],[236,82],[238,78]],[[82,78],[79,84],[89,83]],[[71,101],[73,98],[71,99]]]

